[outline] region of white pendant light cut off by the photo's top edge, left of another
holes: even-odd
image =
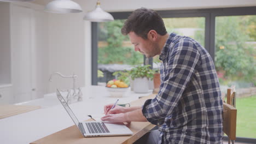
[[[54,0],[49,2],[45,6],[44,11],[48,13],[67,14],[67,13],[80,13],[83,10],[79,4],[71,0]]]

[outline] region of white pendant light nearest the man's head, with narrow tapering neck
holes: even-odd
[[[113,21],[114,17],[107,13],[106,11],[102,10],[100,7],[100,2],[98,1],[96,4],[96,9],[90,11],[84,16],[84,20],[88,20],[91,22],[106,22],[106,21]]]

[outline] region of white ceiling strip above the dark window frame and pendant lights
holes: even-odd
[[[46,5],[53,0],[34,0],[31,3]],[[95,9],[98,0],[72,0],[77,2],[84,12]],[[108,12],[133,11],[145,7],[154,10],[174,9],[202,9],[202,8],[228,8],[228,7],[252,7],[256,6],[256,0],[100,0],[101,8]]]

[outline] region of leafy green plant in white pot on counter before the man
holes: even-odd
[[[153,80],[154,71],[151,65],[142,65],[132,68],[129,73],[133,80],[133,91],[136,93],[147,93],[149,91],[149,80]]]

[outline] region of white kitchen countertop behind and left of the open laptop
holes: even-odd
[[[129,90],[123,97],[113,98],[103,86],[85,87],[82,88],[82,92],[83,101],[69,105],[79,121],[88,119],[87,115],[92,115],[92,117],[101,115],[103,106],[114,103],[117,99],[120,103],[130,103],[138,97],[152,94],[152,91],[137,94]],[[30,101],[30,104],[33,104],[33,101]],[[72,119],[61,104],[44,107],[0,119],[0,143],[27,144],[72,125],[74,125]]]

